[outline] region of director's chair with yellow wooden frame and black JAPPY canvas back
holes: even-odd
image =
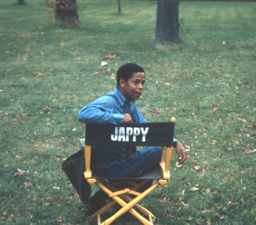
[[[172,118],[169,122],[160,123],[86,124],[85,140],[80,140],[81,145],[84,145],[84,177],[89,184],[96,184],[111,199],[107,205],[92,215],[92,217],[97,217],[98,224],[110,224],[127,211],[143,224],[153,224],[152,218],[155,217],[154,214],[139,205],[139,202],[145,196],[148,196],[152,190],[160,185],[166,185],[170,178],[169,165],[172,158],[174,126],[175,118]],[[161,146],[160,162],[158,166],[136,178],[100,177],[90,169],[91,145],[94,144]],[[142,187],[143,184],[152,179],[157,180],[157,182],[142,193],[137,191],[139,187]],[[119,189],[119,187],[122,188]],[[115,204],[120,205],[120,209],[102,222],[101,215]]]

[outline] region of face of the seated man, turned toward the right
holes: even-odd
[[[137,100],[142,95],[142,90],[145,85],[145,74],[142,72],[134,73],[133,76],[125,82],[120,80],[122,94],[126,101]]]

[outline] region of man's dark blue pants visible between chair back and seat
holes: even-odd
[[[135,149],[110,146],[93,146],[92,169],[96,174],[108,178],[138,177],[156,166],[160,161],[161,149],[149,147]]]

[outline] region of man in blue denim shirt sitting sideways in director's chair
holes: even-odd
[[[142,67],[132,63],[122,65],[117,71],[117,87],[114,92],[84,106],[78,114],[78,120],[87,124],[148,122],[135,104],[144,86],[145,71]],[[186,159],[183,145],[174,139],[174,146],[177,160],[183,163]],[[160,148],[149,147],[136,151],[135,147],[93,145],[92,160],[92,170],[100,176],[137,177],[159,163]],[[152,181],[145,188],[151,184]],[[105,194],[99,190],[90,198],[87,208],[94,213],[104,204]]]

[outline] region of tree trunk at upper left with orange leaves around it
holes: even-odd
[[[78,27],[81,23],[78,18],[76,0],[60,0],[55,5],[55,20],[60,26]]]

